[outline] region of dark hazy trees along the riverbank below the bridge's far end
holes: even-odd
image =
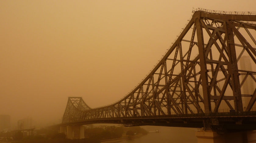
[[[119,126],[100,126],[94,128],[84,128],[85,138],[67,139],[64,133],[56,130],[42,128],[37,130],[37,135],[23,136],[18,132],[13,139],[5,140],[8,143],[116,143],[123,140],[132,140],[147,135],[148,131],[140,126],[124,127]],[[0,141],[2,142],[2,141]]]

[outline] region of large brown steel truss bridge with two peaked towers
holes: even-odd
[[[256,65],[255,35],[254,12],[198,8],[155,68],[128,95],[99,108],[90,108],[81,97],[69,97],[61,125],[256,129],[256,71],[241,68],[240,62],[246,55],[252,67]],[[244,86],[253,90],[245,91]]]

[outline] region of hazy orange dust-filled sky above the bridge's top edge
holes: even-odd
[[[247,0],[0,1],[0,114],[60,123],[69,96],[91,108],[126,95],[165,54],[192,8]]]

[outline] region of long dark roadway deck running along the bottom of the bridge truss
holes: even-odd
[[[170,126],[187,128],[207,128],[211,125],[222,132],[256,130],[256,111],[221,112],[206,114],[157,115],[121,118],[96,118],[62,123],[57,126],[79,126],[88,124],[123,124],[124,126]]]

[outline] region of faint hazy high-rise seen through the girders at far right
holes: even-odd
[[[252,71],[251,67],[251,57],[250,56],[242,56],[240,58],[240,68],[241,70],[246,70],[246,71]],[[245,75],[241,76],[243,80]],[[248,76],[244,84],[242,85],[242,94],[244,95],[252,95],[255,87],[254,87],[254,80],[251,78],[251,76]],[[243,99],[243,106],[247,106],[249,103],[250,98],[242,98]],[[255,109],[254,109],[255,110]]]

